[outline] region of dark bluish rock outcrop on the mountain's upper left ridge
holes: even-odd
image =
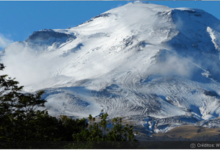
[[[35,31],[32,35],[29,36],[29,38],[26,41],[28,42],[48,41],[50,38],[54,38],[54,39],[61,39],[61,38],[72,39],[73,38],[75,39],[76,37],[70,34],[55,32],[51,29],[44,29],[41,31]]]

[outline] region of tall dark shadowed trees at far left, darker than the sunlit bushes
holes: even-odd
[[[4,68],[0,64],[0,70]],[[14,148],[12,143],[16,143],[16,148],[28,148],[28,144],[22,147],[20,143],[30,141],[72,141],[72,134],[88,126],[86,119],[57,119],[48,115],[44,109],[46,100],[41,99],[43,91],[22,93],[23,86],[7,75],[0,76],[0,87],[1,148]]]

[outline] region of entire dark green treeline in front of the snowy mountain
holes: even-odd
[[[4,68],[0,64],[0,70]],[[15,79],[0,76],[0,148],[138,147],[133,126],[122,126],[121,118],[112,119],[111,130],[107,113],[101,114],[99,123],[91,115],[88,119],[56,118],[45,109],[43,91],[26,94],[22,88]]]

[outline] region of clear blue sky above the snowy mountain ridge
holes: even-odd
[[[0,50],[34,31],[74,27],[131,1],[0,1]],[[171,8],[199,8],[220,19],[220,1],[146,1]]]

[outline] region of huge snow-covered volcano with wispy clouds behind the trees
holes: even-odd
[[[101,109],[147,130],[218,126],[220,21],[199,9],[129,3],[69,29],[41,30],[1,52],[4,74],[45,90],[52,115]]]

